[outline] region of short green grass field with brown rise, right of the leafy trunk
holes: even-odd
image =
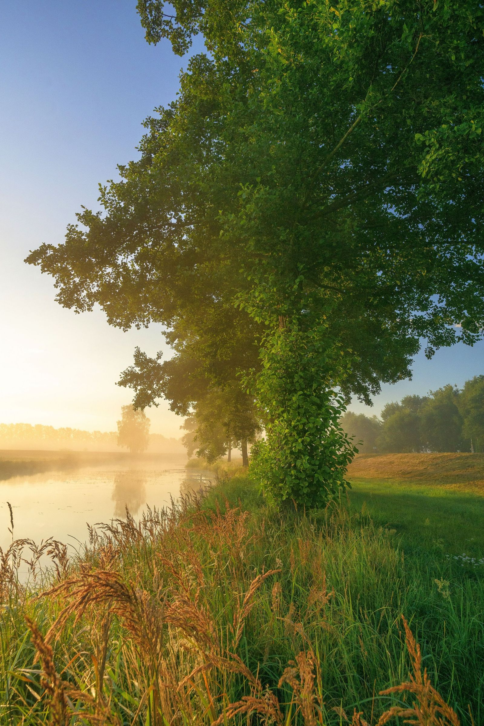
[[[484,454],[359,454],[348,478],[351,505],[407,552],[484,556]]]

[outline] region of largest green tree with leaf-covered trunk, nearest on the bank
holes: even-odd
[[[105,213],[84,210],[28,261],[63,305],[160,322],[181,347],[206,322],[242,330],[261,351],[234,374],[265,423],[258,474],[276,497],[318,503],[351,457],[340,392],[369,401],[409,375],[422,339],[431,356],[481,337],[483,8],[163,7],[139,1],[147,39],[182,52],[201,31],[210,55],[102,187]]]

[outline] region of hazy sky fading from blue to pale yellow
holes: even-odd
[[[136,157],[141,121],[178,89],[186,65],[144,41],[136,0],[29,0],[0,8],[0,423],[112,430],[130,393],[115,385],[136,345],[165,351],[157,327],[123,333],[101,311],[54,302],[52,279],[23,263],[62,241],[97,184]],[[201,41],[195,50],[202,48]],[[166,351],[169,355],[169,351]],[[372,412],[406,393],[484,373],[484,344],[417,356],[412,381],[384,386]],[[355,403],[353,410],[366,410]],[[179,436],[161,403],[152,431]]]

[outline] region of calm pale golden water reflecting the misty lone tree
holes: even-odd
[[[54,537],[78,550],[88,536],[86,523],[125,518],[126,506],[139,518],[147,505],[165,507],[171,497],[197,492],[213,476],[186,469],[186,457],[118,458],[0,478],[0,547],[5,549],[12,541],[7,502],[13,509],[15,539],[28,537],[40,543]]]

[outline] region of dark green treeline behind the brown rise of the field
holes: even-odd
[[[388,403],[381,418],[348,411],[341,425],[362,453],[484,452],[484,375]]]

